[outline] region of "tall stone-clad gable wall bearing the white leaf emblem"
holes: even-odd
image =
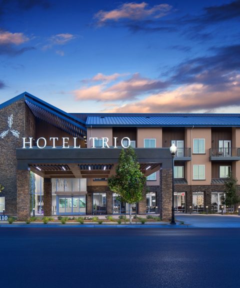
[[[9,127],[8,117],[11,115],[12,124],[11,127]],[[18,183],[20,183],[20,181],[19,175],[17,175],[16,148],[22,146],[21,137],[34,137],[34,123],[34,116],[24,103],[24,98],[0,109],[0,134],[8,130],[5,136],[0,137],[0,183],[4,186],[4,190],[0,196],[5,196],[5,213],[8,215],[16,215],[17,194],[20,194],[20,192],[17,192],[19,188],[17,179]],[[14,136],[10,130],[17,130],[19,136]],[[26,214],[28,215],[27,209],[26,207]]]

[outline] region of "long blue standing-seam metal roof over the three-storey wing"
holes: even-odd
[[[108,116],[93,115],[86,119],[86,126],[240,126],[240,114],[137,114]]]

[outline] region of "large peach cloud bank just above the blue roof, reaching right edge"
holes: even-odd
[[[183,85],[171,91],[152,94],[143,100],[105,109],[104,112],[192,112],[240,105],[240,81],[226,91],[211,91],[203,84]]]

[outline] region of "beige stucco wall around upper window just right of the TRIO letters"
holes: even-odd
[[[162,129],[161,128],[137,128],[136,130],[137,147],[144,147],[144,139],[156,139],[156,147],[162,147]]]

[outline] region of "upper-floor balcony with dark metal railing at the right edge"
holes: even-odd
[[[209,160],[236,161],[240,160],[240,148],[210,148]]]

